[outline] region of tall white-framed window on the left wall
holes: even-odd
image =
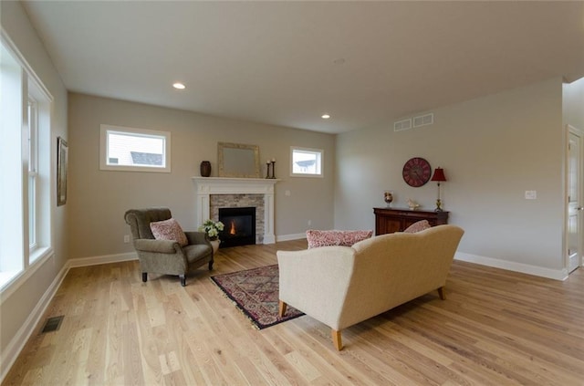
[[[52,97],[0,32],[0,288],[52,255]]]

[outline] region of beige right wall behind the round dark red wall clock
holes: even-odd
[[[443,208],[466,233],[462,257],[545,276],[562,275],[562,79],[433,110],[434,124],[394,132],[392,122],[337,141],[335,225],[374,227],[372,207],[392,189],[433,210],[437,187],[412,188],[401,168],[423,157],[444,168]],[[396,117],[400,119],[402,117]],[[525,191],[537,191],[526,200]]]

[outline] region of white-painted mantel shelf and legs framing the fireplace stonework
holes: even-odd
[[[274,185],[275,178],[224,178],[193,177],[196,187],[197,224],[210,218],[211,194],[263,194],[264,195],[264,244],[276,243],[274,235]]]

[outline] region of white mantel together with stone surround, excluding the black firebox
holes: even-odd
[[[219,207],[255,206],[256,242],[276,243],[274,185],[278,181],[270,178],[193,177],[197,226],[208,218],[216,221]]]

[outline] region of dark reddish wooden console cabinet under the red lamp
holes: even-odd
[[[421,220],[428,220],[432,226],[448,224],[448,212],[430,212],[399,208],[373,208],[375,214],[375,235],[401,232]]]

